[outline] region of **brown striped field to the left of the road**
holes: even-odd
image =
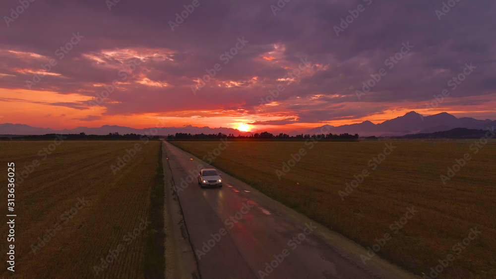
[[[16,278],[163,277],[161,142],[56,143],[0,141],[7,214],[7,163],[17,178],[15,242],[0,229],[1,254],[15,244]]]

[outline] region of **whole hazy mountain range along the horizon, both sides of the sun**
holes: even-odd
[[[374,124],[371,121],[364,121],[362,123],[347,124],[341,126],[323,125],[320,127],[312,128],[307,131],[292,131],[290,135],[296,134],[318,134],[322,128],[325,128],[327,133],[333,134],[359,134],[360,136],[402,136],[406,134],[416,133],[434,133],[439,131],[447,131],[454,128],[468,128],[468,129],[486,129],[496,125],[496,121],[486,119],[478,120],[471,117],[457,118],[447,112],[423,116],[417,112],[408,112],[403,116],[394,119],[386,120],[382,123]],[[54,130],[51,128],[38,128],[25,124],[0,124],[0,134],[3,135],[43,135],[43,134],[79,134],[85,133],[87,135],[107,135],[109,133],[118,132],[119,134],[150,134],[150,129],[135,129],[124,126],[104,125],[97,128],[77,127],[74,129]],[[237,135],[250,135],[251,132],[241,132],[233,128],[210,128],[195,127],[187,125],[185,127],[164,127],[158,129],[157,135],[169,135],[176,133],[191,133],[191,134],[234,134]]]

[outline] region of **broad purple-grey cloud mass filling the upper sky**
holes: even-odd
[[[460,1],[441,20],[435,10],[442,1],[372,0],[367,5],[362,0],[292,0],[274,15],[270,5],[276,2],[200,1],[172,31],[169,22],[188,1],[120,1],[109,10],[103,0],[36,0],[10,26],[0,24],[1,87],[26,89],[32,72],[43,71],[41,64],[53,58],[53,75],[43,76],[33,90],[95,97],[117,79],[118,88],[101,104],[106,115],[252,113],[260,98],[266,100],[281,85],[284,91],[275,98],[281,105],[268,111],[296,115],[300,122],[366,116],[387,110],[387,104],[431,101],[465,63],[477,69],[451,97],[480,104],[470,98],[495,92],[494,1]],[[358,4],[366,5],[365,11],[336,36],[334,26]],[[8,16],[17,5],[17,0],[2,1],[1,15]],[[84,38],[59,59],[57,50],[73,32]],[[238,38],[247,45],[224,64],[221,55]],[[385,60],[407,42],[413,49],[388,69]],[[305,57],[311,66],[294,82],[280,80]],[[140,65],[123,80],[120,70],[135,58]],[[193,95],[190,86],[216,63],[222,69]],[[381,68],[387,74],[361,100],[370,106],[345,106],[359,101],[355,90]],[[50,104],[87,108],[84,102]]]

